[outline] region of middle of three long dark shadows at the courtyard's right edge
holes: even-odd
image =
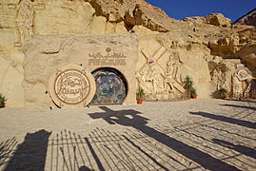
[[[252,128],[252,129],[256,129],[256,123],[251,123],[251,122],[247,122],[247,121],[243,121],[243,120],[238,120],[238,119],[234,119],[234,118],[229,118],[226,116],[219,116],[219,115],[214,115],[211,113],[207,113],[207,112],[189,112],[192,115],[200,115],[212,120],[216,120],[216,121],[221,121],[221,122],[226,122],[226,123],[233,123],[233,124],[238,124],[241,126],[245,126],[248,128]]]

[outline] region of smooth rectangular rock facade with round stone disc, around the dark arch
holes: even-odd
[[[126,78],[124,104],[136,103],[138,39],[134,34],[34,36],[23,48],[25,107],[86,106],[96,91],[91,73],[107,67]]]

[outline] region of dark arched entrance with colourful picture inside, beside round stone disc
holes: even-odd
[[[122,74],[110,67],[92,72],[96,92],[90,104],[123,104],[127,96],[127,83]]]

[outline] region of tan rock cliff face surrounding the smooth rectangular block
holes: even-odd
[[[237,64],[245,64],[256,75],[256,28],[231,25],[220,13],[175,20],[144,0],[3,0],[0,17],[0,92],[8,97],[8,106],[26,104],[23,79],[32,73],[23,70],[23,48],[35,35],[135,32],[138,85],[149,59],[161,70],[156,79],[161,84],[157,91],[150,90],[157,95],[148,94],[153,100],[173,98],[172,91],[179,96],[186,75],[193,79],[199,98],[211,98],[221,87],[231,93]],[[54,42],[51,45],[54,49]],[[170,61],[176,85],[165,90]],[[166,91],[169,96],[162,96]]]

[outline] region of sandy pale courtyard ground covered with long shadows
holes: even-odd
[[[256,170],[256,102],[0,109],[1,170]]]

